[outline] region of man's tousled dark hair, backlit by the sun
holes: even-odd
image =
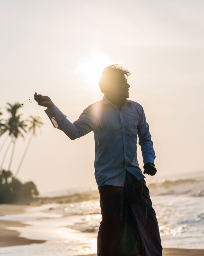
[[[124,69],[122,65],[114,64],[105,67],[98,83],[102,93],[106,91],[108,80],[110,80],[111,76],[115,73],[125,75],[127,79],[130,76],[128,69]]]

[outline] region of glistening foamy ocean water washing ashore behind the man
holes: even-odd
[[[150,183],[148,187],[159,223],[162,246],[204,249],[203,174]],[[98,194],[96,188],[86,188],[54,191],[49,196],[85,193],[88,190]],[[0,248],[0,255],[71,256],[97,251],[97,232],[101,220],[98,199],[29,207],[24,214],[0,216],[0,220],[26,223],[29,226],[15,227],[20,236],[47,240],[43,244],[3,247]]]

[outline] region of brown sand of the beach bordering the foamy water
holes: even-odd
[[[90,195],[92,197],[92,195]],[[35,199],[31,202],[25,202],[26,204],[0,204],[0,215],[13,215],[13,214],[21,214],[26,212],[26,209],[30,207],[30,205],[39,205],[44,203],[51,202],[71,202],[71,201],[82,201],[83,197],[79,195],[67,196],[67,197],[57,197],[57,198],[40,198]],[[24,227],[27,226],[19,221],[0,221],[0,247],[8,247],[8,246],[16,246],[16,245],[28,245],[28,244],[39,244],[44,243],[46,240],[31,240],[26,237],[19,237],[19,232],[15,230],[15,227]],[[11,229],[8,229],[12,227]],[[204,250],[194,250],[194,249],[178,249],[178,248],[164,248],[163,249],[164,256],[175,256],[175,255],[185,255],[192,256],[204,255]],[[75,256],[85,256],[85,255],[75,255]],[[96,254],[86,254],[86,256],[96,256]]]

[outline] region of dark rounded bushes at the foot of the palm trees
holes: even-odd
[[[12,172],[0,172],[0,204],[7,204],[23,199],[30,199],[39,195],[36,185],[32,181],[22,183],[13,177]]]

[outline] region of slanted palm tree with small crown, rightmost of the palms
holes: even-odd
[[[21,158],[21,161],[20,161],[20,163],[19,163],[18,169],[17,169],[17,171],[16,171],[15,177],[17,176],[17,174],[18,174],[18,172],[19,172],[19,170],[20,170],[20,167],[21,167],[21,165],[22,165],[22,163],[23,163],[23,160],[24,160],[24,158],[25,158],[25,155],[26,155],[26,153],[27,153],[27,151],[28,151],[28,148],[29,148],[29,146],[30,146],[30,142],[31,142],[32,137],[33,137],[33,136],[36,136],[36,128],[37,128],[37,127],[40,128],[40,126],[43,125],[43,123],[41,122],[39,116],[35,116],[35,117],[29,116],[29,119],[27,119],[27,121],[30,123],[28,130],[29,130],[29,132],[31,132],[31,134],[30,134],[30,138],[29,138],[29,140],[28,140],[28,144],[27,144],[27,146],[26,146],[26,149],[25,149],[25,151],[24,151],[24,153],[23,153],[23,156],[22,156],[22,158]]]

